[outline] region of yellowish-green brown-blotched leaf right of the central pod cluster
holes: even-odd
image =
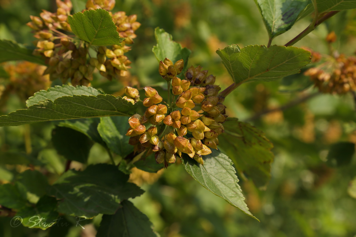
[[[219,136],[219,148],[241,175],[251,177],[257,186],[266,185],[271,178],[273,144],[261,130],[237,118],[228,118],[224,128],[225,132]]]

